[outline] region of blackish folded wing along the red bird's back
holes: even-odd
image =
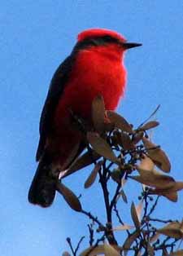
[[[37,155],[36,155],[37,161],[40,160],[40,157],[44,152],[46,138],[51,131],[51,124],[52,124],[54,109],[59,103],[59,99],[63,94],[64,87],[68,82],[68,77],[69,77],[69,74],[71,73],[74,59],[75,59],[74,54],[69,55],[68,58],[64,60],[62,64],[59,65],[59,68],[57,68],[50,82],[50,88],[48,90],[46,102],[41,112],[41,119],[40,119],[40,126],[39,126],[40,139],[39,139]]]

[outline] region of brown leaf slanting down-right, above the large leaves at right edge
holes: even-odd
[[[142,141],[146,147],[148,156],[152,159],[152,161],[154,161],[155,165],[164,172],[169,172],[171,169],[171,164],[165,152],[163,152],[161,148],[156,148],[157,145],[151,143],[150,140],[146,139],[145,137],[142,138]]]

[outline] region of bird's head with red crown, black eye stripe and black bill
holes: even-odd
[[[120,34],[109,29],[87,29],[79,33],[77,43],[74,51],[82,49],[94,48],[101,51],[115,51],[122,55],[124,51],[142,46],[141,43],[127,42],[127,40]]]

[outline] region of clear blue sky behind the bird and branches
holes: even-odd
[[[158,104],[155,131],[172,161],[172,175],[183,180],[183,5],[177,1],[3,1],[0,7],[1,93],[0,169],[1,255],[57,256],[86,233],[87,219],[72,212],[61,196],[49,209],[28,204],[28,187],[37,164],[38,122],[50,78],[72,51],[77,33],[102,27],[123,33],[143,46],[127,53],[128,88],[118,111],[134,125]],[[89,170],[68,178],[83,203],[102,216],[97,184],[84,191]],[[134,184],[132,184],[134,186]],[[133,188],[127,188],[133,195]],[[163,201],[159,217],[182,217],[183,196]],[[162,210],[163,209],[163,210]]]

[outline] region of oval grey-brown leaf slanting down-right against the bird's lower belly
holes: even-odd
[[[112,151],[110,145],[106,142],[106,140],[102,139],[98,134],[94,132],[87,133],[87,139],[91,144],[94,151],[97,152],[102,157],[107,158],[115,163],[119,163],[119,159],[115,157],[114,152]]]

